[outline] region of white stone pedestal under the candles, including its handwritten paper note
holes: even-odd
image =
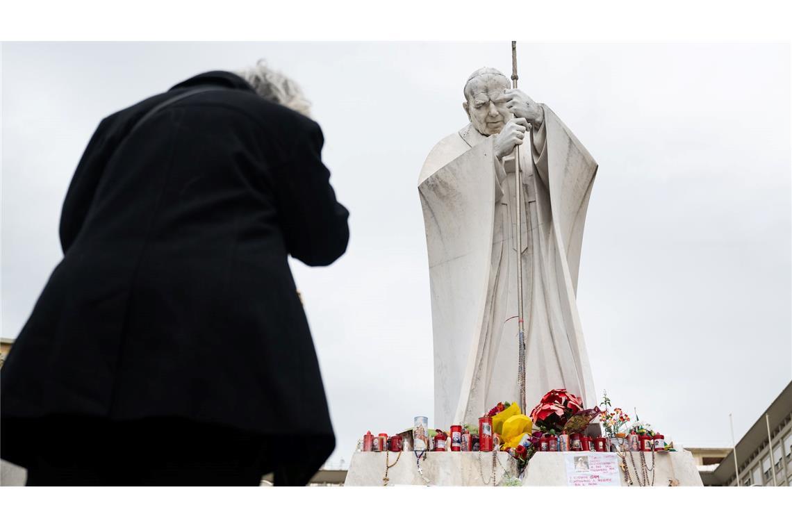
[[[702,486],[699,471],[687,451],[656,453],[592,453],[588,451],[540,452],[528,462],[521,476],[524,486],[626,486],[621,456],[625,456],[631,485],[645,482],[655,486]],[[421,486],[485,486],[493,485],[493,455],[486,452],[429,452],[421,457],[423,477],[418,473],[413,451],[388,454],[391,465],[387,484]],[[641,463],[644,458],[645,466]],[[394,462],[396,462],[394,464]],[[644,471],[644,467],[646,471]],[[352,462],[345,485],[383,486],[386,454],[358,452]],[[653,469],[653,471],[649,471]],[[497,454],[495,483],[506,484],[517,477],[516,460],[505,452]],[[653,481],[652,481],[653,477]],[[519,482],[516,483],[520,485]]]

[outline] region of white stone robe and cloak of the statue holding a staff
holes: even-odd
[[[577,271],[596,161],[550,110],[520,148],[521,258],[529,412],[550,389],[596,404],[577,313]],[[520,401],[514,160],[472,125],[428,154],[424,211],[435,361],[435,423],[476,424]]]

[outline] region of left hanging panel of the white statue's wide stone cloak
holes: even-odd
[[[430,155],[431,156],[431,155]],[[432,295],[435,401],[455,401],[470,385],[486,301],[492,251],[495,181],[492,139],[464,151],[418,187],[424,211]],[[438,391],[448,397],[438,397]],[[451,420],[455,402],[436,408]],[[454,408],[451,408],[454,406]]]

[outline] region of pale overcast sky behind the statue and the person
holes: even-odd
[[[2,44],[2,325],[14,338],[62,257],[63,197],[102,117],[265,58],[314,102],[351,211],[329,268],[292,260],[348,462],[366,431],[434,424],[417,177],[466,124],[501,43]],[[578,308],[598,393],[685,446],[728,446],[792,378],[790,48],[519,44],[520,88],[600,164]],[[219,351],[222,354],[233,351]],[[494,403],[494,402],[493,402]]]

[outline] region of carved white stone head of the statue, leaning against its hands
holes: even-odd
[[[497,134],[511,119],[512,112],[501,101],[503,91],[511,87],[508,78],[495,68],[479,68],[467,78],[462,108],[483,135]]]

